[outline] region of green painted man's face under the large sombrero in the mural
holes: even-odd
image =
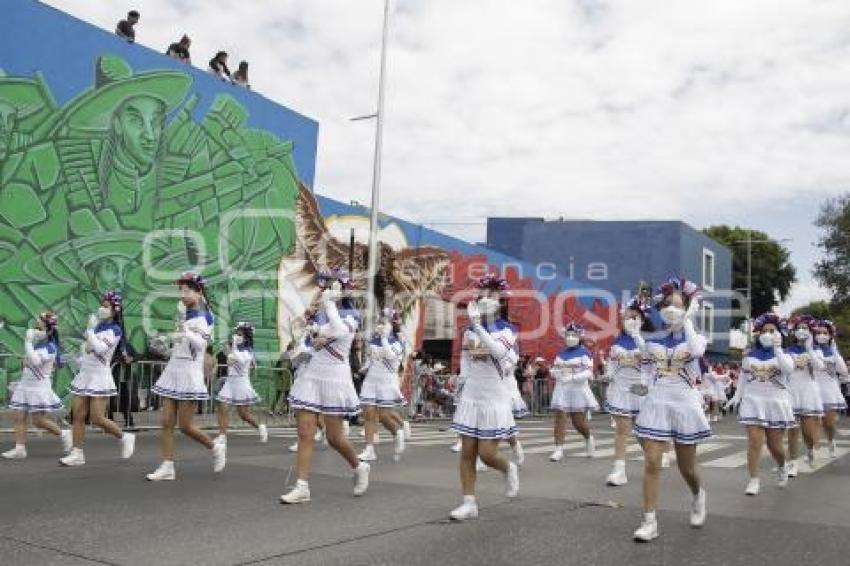
[[[132,161],[141,173],[151,168],[156,159],[165,126],[164,104],[152,97],[129,99],[116,112],[115,128],[119,151]]]

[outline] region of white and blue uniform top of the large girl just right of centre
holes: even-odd
[[[517,363],[517,330],[509,322],[497,320],[483,326],[484,332],[468,328],[463,334],[461,368],[464,377],[502,379],[510,376]]]

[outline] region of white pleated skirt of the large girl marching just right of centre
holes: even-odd
[[[498,378],[468,377],[455,409],[451,428],[462,436],[481,440],[496,440],[516,435],[513,403],[505,384]]]

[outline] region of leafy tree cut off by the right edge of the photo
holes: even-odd
[[[850,303],[850,193],[827,200],[815,226],[823,231],[818,240],[823,259],[815,264],[815,278],[832,291],[834,304]]]

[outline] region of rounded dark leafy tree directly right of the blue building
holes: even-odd
[[[753,317],[773,310],[773,307],[788,297],[791,285],[797,280],[797,271],[790,262],[791,252],[785,246],[764,232],[740,226],[709,226],[703,233],[731,250],[732,288],[741,292],[747,288],[747,239],[753,240]],[[744,301],[733,301],[732,306],[746,310]],[[732,324],[741,320],[743,317],[733,317]]]

